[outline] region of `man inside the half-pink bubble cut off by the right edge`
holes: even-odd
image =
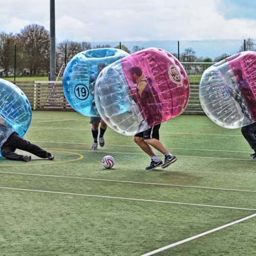
[[[244,80],[242,71],[240,69],[236,69],[233,71],[233,74],[234,78],[238,82],[238,87],[241,91],[241,95],[250,95],[250,93],[248,93],[249,84],[247,83],[246,80]],[[230,95],[234,98],[234,100],[236,100],[241,106],[243,104],[243,100],[241,98],[241,95],[238,94],[238,91],[233,91],[230,87],[228,88],[228,91]],[[248,100],[250,100],[250,97],[247,97],[247,101]],[[250,102],[246,102],[246,105],[250,105]],[[244,114],[245,119],[251,119],[248,112],[243,111],[242,106],[241,110]],[[250,154],[250,156],[252,157],[253,160],[256,160],[256,122],[242,126],[241,132],[246,141],[248,142],[248,144],[250,145],[250,147],[252,148],[252,150],[254,151],[254,153]]]

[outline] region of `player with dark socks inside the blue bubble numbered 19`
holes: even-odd
[[[106,67],[104,63],[99,63],[98,65],[98,72],[95,72],[90,77],[90,86],[91,86],[91,93],[94,94],[94,87],[96,79],[99,75],[99,73]],[[95,102],[93,101],[92,108],[95,108]],[[104,120],[100,117],[91,117],[90,123],[92,124],[92,135],[93,135],[93,145],[92,150],[97,150],[98,148],[98,134],[99,134],[99,123],[100,123],[100,134],[99,134],[99,145],[103,147],[105,145],[104,141],[104,133],[106,131],[106,128],[108,127]]]

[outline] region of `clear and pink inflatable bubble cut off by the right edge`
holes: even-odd
[[[199,97],[205,114],[236,129],[256,121],[256,53],[245,51],[211,66],[202,75]]]

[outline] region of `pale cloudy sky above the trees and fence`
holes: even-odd
[[[0,32],[50,30],[50,0],[0,6]],[[57,42],[256,38],[253,0],[55,0],[55,19]]]

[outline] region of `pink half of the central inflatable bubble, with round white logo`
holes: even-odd
[[[121,63],[130,92],[149,126],[167,121],[184,111],[189,97],[188,77],[172,54],[162,49],[148,48],[123,58]],[[142,77],[150,83],[145,101],[139,95],[138,83],[131,77],[133,67],[139,67]]]

